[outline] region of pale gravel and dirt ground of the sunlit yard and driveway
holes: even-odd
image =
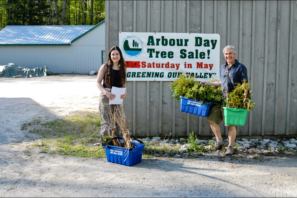
[[[0,78],[0,197],[296,197],[297,156],[142,159],[49,155],[21,125],[97,111],[95,75]],[[30,153],[30,155],[28,155]]]

